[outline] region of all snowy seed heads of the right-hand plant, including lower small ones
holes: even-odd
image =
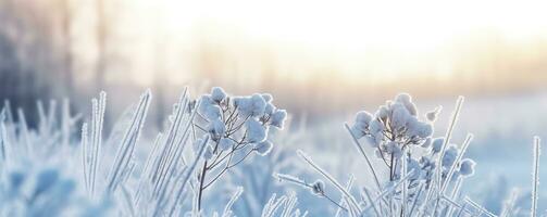
[[[358,112],[350,127],[351,133],[375,149],[375,156],[389,168],[390,181],[400,180],[401,173],[406,169],[412,171],[409,177],[410,187],[418,187],[420,180],[424,180],[425,189],[428,189],[434,169],[439,166],[435,158],[440,155],[445,143],[443,137],[432,137],[433,124],[439,112],[440,106],[425,113],[423,119],[420,119],[412,98],[408,93],[400,93],[394,101],[387,101],[385,105],[380,106],[374,115],[366,111]],[[467,144],[461,148],[467,149]],[[450,180],[457,180],[460,176],[473,175],[473,159],[458,159],[463,155],[464,149],[458,148],[457,144],[446,146],[440,163],[443,179],[450,176]],[[403,164],[407,165],[406,168],[402,168]],[[452,165],[456,169],[450,171]]]

